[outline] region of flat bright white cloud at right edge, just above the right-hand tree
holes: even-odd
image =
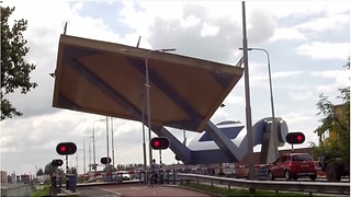
[[[350,55],[349,43],[313,42],[294,48],[297,55],[309,56],[314,59],[346,59]]]

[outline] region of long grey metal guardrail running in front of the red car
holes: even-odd
[[[350,183],[251,181],[184,173],[179,173],[178,177],[182,181],[204,182],[241,188],[350,195]]]

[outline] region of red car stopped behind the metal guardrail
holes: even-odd
[[[315,181],[317,169],[308,153],[288,153],[281,155],[270,165],[268,176],[269,179],[285,178],[286,181],[307,176]]]

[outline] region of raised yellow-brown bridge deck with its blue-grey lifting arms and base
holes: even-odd
[[[150,51],[60,35],[53,106],[138,121],[148,118],[143,84],[145,54]],[[188,165],[242,160],[248,152],[245,126],[210,120],[242,77],[241,60],[233,66],[155,51],[148,57],[148,73],[150,130],[169,139],[179,160]],[[274,119],[276,134],[271,124],[267,117],[253,125],[253,146],[262,144],[260,163],[276,159],[278,146],[285,143],[288,132],[282,118]],[[201,135],[186,147],[166,127]]]

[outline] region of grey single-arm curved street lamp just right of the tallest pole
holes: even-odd
[[[242,48],[239,48],[242,49]],[[270,54],[264,48],[248,48],[248,50],[261,50],[264,51],[267,55],[267,63],[268,63],[268,77],[269,77],[269,83],[270,83],[270,96],[271,96],[271,109],[272,109],[272,125],[271,130],[273,132],[273,141],[274,147],[278,147],[278,139],[276,139],[276,129],[274,126],[275,115],[274,115],[274,101],[273,101],[273,88],[272,88],[272,76],[271,76],[271,60],[270,60]],[[274,151],[275,159],[278,158],[278,151]]]

